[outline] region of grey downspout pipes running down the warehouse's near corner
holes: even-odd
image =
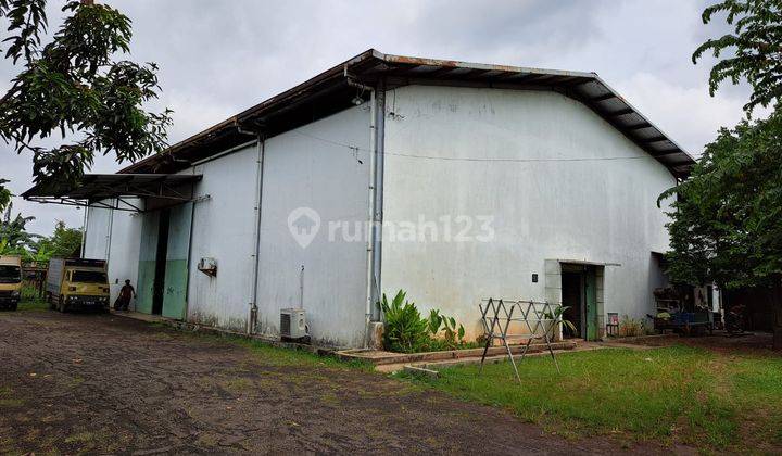
[[[348,85],[369,92],[369,198],[368,220],[369,230],[367,239],[367,276],[366,276],[366,309],[364,313],[364,347],[369,347],[370,324],[379,320],[379,312],[374,312],[375,303],[380,294],[380,253],[382,241],[382,128],[384,122],[384,88],[362,84],[349,73],[344,66],[344,77]]]

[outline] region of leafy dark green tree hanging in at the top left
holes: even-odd
[[[21,65],[0,99],[0,139],[31,153],[36,183],[56,189],[78,182],[96,154],[118,163],[166,145],[171,111],[146,111],[157,97],[157,67],[115,56],[129,52],[130,20],[91,0],[67,1],[66,17],[43,43],[47,0],[0,0],[10,26],[4,58]],[[55,148],[39,144],[60,135]],[[0,205],[8,204],[0,180]]]

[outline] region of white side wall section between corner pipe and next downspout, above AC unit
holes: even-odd
[[[270,138],[264,153],[258,330],[279,331],[279,311],[303,302],[313,339],[362,346],[366,304],[365,241],[345,242],[332,221],[368,220],[369,107],[365,103]],[[344,145],[358,147],[351,150]],[[320,228],[302,248],[288,227],[298,207]],[[302,282],[302,266],[303,282]],[[303,283],[303,300],[302,300]]]

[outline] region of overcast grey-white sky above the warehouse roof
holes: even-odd
[[[49,0],[59,7],[63,2]],[[693,50],[727,30],[704,26],[701,0],[261,1],[114,0],[134,23],[136,61],[160,65],[157,107],[174,110],[171,142],[369,48],[392,54],[596,72],[691,154],[720,126],[742,117],[746,88],[710,98],[710,62]],[[59,25],[51,9],[51,25]],[[0,88],[17,68],[0,62]],[[101,157],[92,172],[121,166]],[[21,193],[31,161],[0,143],[0,177]],[[56,219],[80,227],[83,213],[14,199],[48,233]]]

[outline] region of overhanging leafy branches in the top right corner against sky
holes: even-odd
[[[739,84],[745,78],[753,87],[744,110],[749,114],[758,106],[775,105],[782,94],[782,0],[723,0],[703,12],[708,24],[716,14],[726,13],[733,33],[709,39],[693,53],[696,63],[704,53],[720,58],[709,77],[711,96],[724,80]]]

